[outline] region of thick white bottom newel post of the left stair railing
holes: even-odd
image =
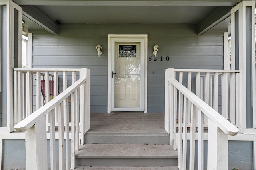
[[[25,131],[26,169],[47,170],[46,119]]]

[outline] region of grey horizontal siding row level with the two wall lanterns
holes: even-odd
[[[158,45],[160,45],[158,43]],[[102,56],[107,56],[108,46],[101,45]],[[168,56],[220,56],[223,55],[223,46],[160,46],[162,49],[158,51],[159,55],[168,55]],[[96,48],[95,46],[34,46],[33,47],[33,56],[72,56],[74,52],[76,56],[95,56]],[[148,51],[152,51],[151,48],[148,48]],[[97,51],[96,51],[97,52]],[[151,55],[151,53],[149,53]],[[152,54],[153,55],[153,54]]]

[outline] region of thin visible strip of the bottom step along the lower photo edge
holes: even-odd
[[[178,166],[77,166],[75,170],[179,170]]]

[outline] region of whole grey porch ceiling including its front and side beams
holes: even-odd
[[[48,24],[52,33],[56,34],[58,33],[56,20],[61,24],[186,23],[202,27],[198,31],[198,33],[202,33],[209,26],[212,28],[226,20],[231,6],[240,0],[14,0],[14,2],[24,8],[23,20],[26,22],[24,24],[26,29],[43,29],[41,26]],[[34,12],[30,13],[31,8],[34,9]],[[221,15],[218,16],[218,13]],[[224,18],[221,18],[223,16]],[[41,22],[42,24],[39,23],[39,26],[33,20],[36,17],[39,18],[37,20],[44,18],[45,23]],[[220,18],[221,20],[218,20]],[[217,28],[228,29],[228,25],[229,20],[226,20]]]

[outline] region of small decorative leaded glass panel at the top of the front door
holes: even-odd
[[[119,57],[137,57],[137,45],[119,45]]]

